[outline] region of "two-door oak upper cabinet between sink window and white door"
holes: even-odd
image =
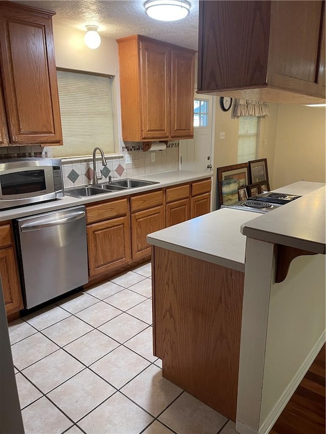
[[[192,138],[195,51],[140,35],[117,42],[123,140]]]

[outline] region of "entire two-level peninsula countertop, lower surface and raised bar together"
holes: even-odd
[[[274,191],[303,197],[269,213],[222,208],[149,234],[147,241],[238,271],[244,271],[243,235],[324,253],[325,189],[323,183],[290,184]]]

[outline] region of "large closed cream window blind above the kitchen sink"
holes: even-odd
[[[52,147],[53,157],[92,155],[99,146],[114,154],[112,78],[58,70],[63,146]]]

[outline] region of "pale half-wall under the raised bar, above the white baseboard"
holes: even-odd
[[[305,360],[324,333],[325,257],[296,257],[285,280],[270,287],[260,427],[297,373],[305,374]]]

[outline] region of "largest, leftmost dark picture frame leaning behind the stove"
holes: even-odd
[[[222,205],[232,205],[237,202],[239,200],[238,189],[246,187],[248,184],[248,163],[218,167],[218,194],[216,194],[218,203],[216,209],[221,208]]]

